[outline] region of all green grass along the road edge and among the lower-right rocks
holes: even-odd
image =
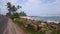
[[[19,21],[16,20],[15,23],[21,27],[24,31],[26,31],[28,34],[45,34],[46,30],[43,30],[41,32],[35,31],[33,28],[31,27],[24,27],[23,22],[25,21]],[[47,28],[48,26],[44,26],[43,28]],[[51,29],[52,34],[60,34],[59,32],[56,32],[55,29]]]

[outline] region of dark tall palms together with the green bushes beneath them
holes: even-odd
[[[26,13],[24,12],[20,12],[20,14],[16,13],[16,11],[19,9],[19,8],[22,8],[22,6],[17,6],[15,7],[15,5],[12,5],[10,2],[7,3],[7,8],[8,8],[8,13],[6,14],[7,16],[10,16],[12,19],[14,18],[18,18],[19,15],[20,16],[26,16]],[[11,16],[12,15],[12,16]]]

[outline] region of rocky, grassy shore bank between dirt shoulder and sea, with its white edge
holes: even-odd
[[[45,31],[45,33],[52,32],[60,32],[60,24],[57,24],[55,22],[47,22],[47,21],[40,21],[32,19],[31,17],[21,16],[20,18],[17,18],[15,20],[16,24],[21,26],[27,33],[31,33],[33,30],[33,33]],[[59,29],[58,29],[59,28]],[[28,29],[28,30],[27,30]],[[31,30],[32,29],[32,30]],[[53,31],[54,30],[54,31]],[[40,34],[39,33],[39,34]],[[44,32],[43,32],[44,33]]]

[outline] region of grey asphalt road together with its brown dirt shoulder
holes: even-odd
[[[0,21],[0,34],[26,34],[26,32],[13,23],[11,19],[3,17]]]

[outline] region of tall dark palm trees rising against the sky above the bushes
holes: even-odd
[[[16,13],[16,11],[19,9],[19,8],[22,8],[21,6],[17,6],[15,7],[15,5],[11,5],[10,2],[7,3],[7,8],[8,8],[8,13],[9,15],[13,15],[14,13]]]

